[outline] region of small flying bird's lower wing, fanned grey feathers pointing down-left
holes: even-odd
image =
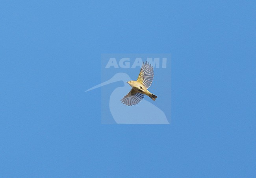
[[[121,99],[124,105],[132,106],[138,104],[144,98],[144,94],[136,92],[132,89],[127,95]]]

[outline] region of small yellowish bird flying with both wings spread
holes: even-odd
[[[121,103],[128,106],[136,105],[144,98],[144,95],[148,95],[156,101],[157,96],[147,90],[151,86],[153,78],[153,67],[148,62],[145,64],[143,62],[137,81],[131,80],[127,82],[132,87],[132,90],[121,99]]]

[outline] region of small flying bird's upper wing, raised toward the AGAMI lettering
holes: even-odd
[[[146,88],[149,88],[152,84],[154,78],[154,71],[151,64],[146,62],[142,64],[141,72],[139,73],[139,77],[137,78],[137,81],[142,83]]]

